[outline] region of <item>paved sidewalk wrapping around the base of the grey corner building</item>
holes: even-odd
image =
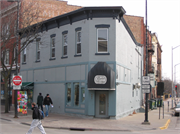
[[[170,100],[168,100],[170,101]],[[42,120],[42,124],[45,128],[57,128],[57,129],[80,129],[80,130],[98,130],[98,131],[144,131],[144,130],[157,130],[166,124],[168,119],[171,119],[172,111],[167,110],[167,100],[164,102],[164,119],[163,109],[161,108],[161,119],[159,120],[159,108],[149,111],[148,119],[150,125],[142,125],[145,116],[144,113],[133,114],[118,120],[110,119],[89,119],[88,117],[72,116],[67,114],[53,114],[50,113],[49,117],[45,117]],[[171,105],[170,105],[171,106]],[[169,106],[169,108],[171,108]],[[12,109],[12,108],[11,108]],[[3,110],[3,111],[2,111]],[[28,115],[20,115],[15,119],[14,111],[4,113],[4,107],[1,106],[1,119],[20,122],[25,125],[30,125],[32,121],[31,111],[28,111]]]

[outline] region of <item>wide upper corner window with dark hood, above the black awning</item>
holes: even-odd
[[[97,28],[97,52],[108,53],[108,28],[110,25],[96,25]]]

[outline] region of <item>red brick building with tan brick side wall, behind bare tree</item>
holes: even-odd
[[[15,74],[15,46],[16,46],[16,20],[17,20],[17,2],[1,1],[1,54],[5,53],[5,66],[10,68],[12,64],[12,71],[10,79]],[[66,1],[59,0],[22,0],[19,3],[19,29],[30,26],[34,23],[41,22],[52,17],[74,11],[81,8],[80,6],[68,5]],[[28,23],[27,23],[28,22]],[[6,44],[3,42],[6,42]],[[12,47],[13,46],[13,47]],[[19,44],[19,49],[20,49]],[[20,69],[20,55],[18,56],[18,70]],[[3,67],[0,66],[2,72]],[[7,72],[7,71],[6,71]],[[1,75],[2,76],[2,75]],[[4,77],[2,76],[2,80]],[[12,84],[11,84],[12,85]],[[4,86],[2,86],[4,87]],[[2,89],[4,90],[4,88]],[[12,91],[11,95],[13,94]],[[1,92],[1,96],[4,96]],[[14,95],[13,95],[14,96]],[[2,97],[1,97],[2,98]],[[4,99],[2,100],[4,103]],[[14,104],[14,99],[12,99]]]

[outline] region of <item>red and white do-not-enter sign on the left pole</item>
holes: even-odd
[[[18,90],[21,89],[22,86],[22,76],[16,75],[13,76],[13,89]]]

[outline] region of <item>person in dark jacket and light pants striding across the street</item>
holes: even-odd
[[[42,134],[46,134],[46,132],[45,132],[45,130],[44,130],[42,124],[41,124],[40,113],[39,113],[38,107],[36,106],[36,103],[33,102],[33,103],[31,104],[31,106],[32,106],[32,110],[33,110],[33,113],[32,113],[33,121],[32,121],[32,123],[31,123],[31,127],[30,127],[29,131],[28,131],[26,134],[31,134],[32,131],[33,131],[36,127],[39,128],[39,130],[41,131]]]

